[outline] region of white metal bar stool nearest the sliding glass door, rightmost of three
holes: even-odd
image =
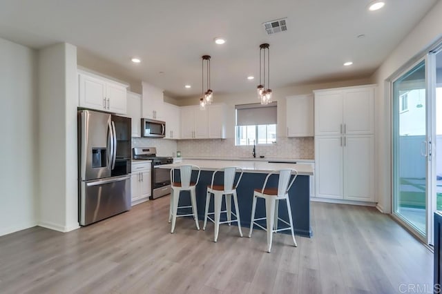
[[[279,175],[278,179],[278,188],[266,188],[267,181],[269,180],[269,177],[271,175]],[[293,179],[290,181],[291,175],[294,174]],[[289,190],[291,188],[291,185],[295,181],[296,177],[298,176],[298,171],[294,170],[292,168],[282,169],[282,170],[273,170],[271,173],[267,175],[265,178],[264,185],[262,186],[262,189],[254,189],[253,192],[253,204],[251,208],[251,222],[250,222],[250,231],[249,231],[249,238],[251,237],[251,233],[253,231],[253,224],[256,226],[259,226],[264,231],[267,231],[267,252],[270,253],[271,250],[271,241],[273,237],[273,233],[285,231],[285,230],[291,230],[291,237],[293,237],[293,242],[295,244],[295,247],[298,246],[296,244],[294,229],[293,229],[293,220],[291,219],[291,208],[290,208],[290,201],[289,201]],[[256,199],[257,198],[264,198],[265,199],[265,210],[266,210],[266,217],[261,217],[256,219],[255,218],[255,210],[256,210]],[[278,202],[279,200],[285,200],[285,203],[287,204],[287,212],[289,214],[289,222],[285,221],[284,219],[280,219],[278,217]],[[267,228],[264,228],[260,224],[256,223],[258,220],[266,219],[267,220]],[[287,224],[288,226],[286,228],[279,228],[278,229],[278,220],[281,222]]]

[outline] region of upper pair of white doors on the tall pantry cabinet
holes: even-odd
[[[373,134],[375,88],[314,91],[315,135]]]

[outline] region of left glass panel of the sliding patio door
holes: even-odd
[[[425,59],[393,82],[393,214],[427,239]]]

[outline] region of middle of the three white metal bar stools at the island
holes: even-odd
[[[224,172],[224,185],[215,185],[213,184],[215,175],[216,173],[220,172]],[[240,177],[238,177],[238,181],[235,184],[235,175],[237,172],[240,173]],[[242,173],[243,173],[242,168],[238,168],[236,166],[219,168],[215,170],[215,172],[213,172],[211,185],[207,186],[206,211],[204,213],[204,226],[202,227],[202,229],[203,230],[206,229],[207,219],[210,219],[211,222],[215,224],[215,237],[213,238],[213,242],[218,241],[218,232],[220,231],[220,224],[229,224],[230,226],[232,222],[237,222],[238,229],[240,231],[240,236],[242,237],[240,210],[238,209],[238,197],[236,195],[236,188],[238,187],[238,184],[240,184]],[[209,213],[209,204],[212,194],[213,194],[214,211],[213,213]],[[232,195],[233,195],[233,203],[235,204],[236,213],[233,213],[231,209]],[[223,196],[225,196],[226,210],[221,211]],[[221,213],[227,213],[226,222],[220,222]],[[209,217],[209,215],[215,215],[215,219],[212,219],[211,217]],[[234,215],[236,219],[232,220],[231,215]]]

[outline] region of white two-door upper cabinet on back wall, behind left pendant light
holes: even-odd
[[[207,112],[207,110],[200,110],[200,106],[181,108],[182,139],[207,139],[209,137]]]

